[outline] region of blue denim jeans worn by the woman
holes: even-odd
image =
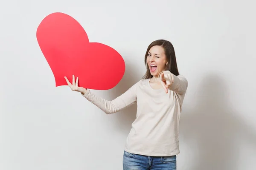
[[[123,170],[176,170],[176,155],[143,156],[124,151]]]

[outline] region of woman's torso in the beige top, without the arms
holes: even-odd
[[[143,79],[136,86],[137,115],[125,150],[148,156],[179,153],[180,97],[160,82]],[[182,97],[183,98],[183,97]]]

